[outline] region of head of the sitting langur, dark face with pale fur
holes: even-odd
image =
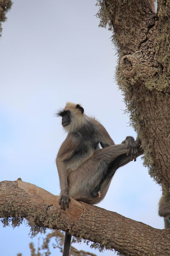
[[[84,108],[79,104],[67,102],[57,116],[62,116],[62,126],[66,131],[76,131],[85,123]]]

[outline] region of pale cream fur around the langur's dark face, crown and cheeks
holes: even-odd
[[[80,105],[80,104],[79,104]],[[85,124],[86,122],[86,115],[82,112],[79,108],[76,108],[77,104],[71,103],[71,102],[67,102],[64,108],[65,110],[69,110],[71,112],[70,114],[70,124],[65,126],[64,129],[66,131],[76,131],[77,129],[79,129],[82,125]],[[80,105],[80,107],[82,107]]]

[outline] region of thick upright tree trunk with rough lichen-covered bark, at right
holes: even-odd
[[[142,140],[144,163],[170,199],[170,3],[99,0],[100,25],[113,30],[117,81],[131,124]]]

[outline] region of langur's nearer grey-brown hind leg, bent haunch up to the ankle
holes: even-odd
[[[69,195],[77,200],[80,198],[82,200],[82,197],[86,198],[86,201],[87,198],[94,198],[91,193],[96,187],[99,187],[101,180],[105,179],[108,167],[113,160],[122,154],[126,155],[127,152],[126,144],[112,145],[96,150],[91,157],[70,173],[68,177]],[[112,172],[112,177],[114,173],[115,170]],[[96,192],[97,197],[99,197],[98,192]]]

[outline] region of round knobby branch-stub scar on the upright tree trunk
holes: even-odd
[[[120,69],[127,80],[133,78],[137,70],[136,57],[133,55],[123,56],[120,60]]]

